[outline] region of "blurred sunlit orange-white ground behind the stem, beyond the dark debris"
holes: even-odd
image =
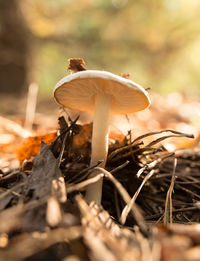
[[[187,138],[168,139],[163,145],[169,150],[197,146],[200,135],[200,103],[174,92],[165,96],[150,93],[152,105],[144,111],[129,115],[112,115],[110,118],[110,141],[122,138],[129,132],[129,138],[134,139],[147,132],[172,129],[195,136],[194,140]],[[58,129],[58,117],[64,115],[75,119],[78,123],[92,122],[93,115],[79,111],[63,110],[55,103],[53,97],[38,99],[35,118],[31,129],[24,127],[26,117],[26,98],[4,97],[0,104],[0,155],[15,158],[15,150],[28,136],[46,135]],[[131,132],[130,132],[131,131]],[[145,142],[149,142],[145,139]],[[17,164],[16,164],[17,165]]]

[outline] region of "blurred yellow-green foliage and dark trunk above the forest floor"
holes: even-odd
[[[0,90],[51,95],[67,59],[153,91],[200,92],[198,0],[0,1]]]

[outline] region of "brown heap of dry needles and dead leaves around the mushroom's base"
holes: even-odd
[[[76,120],[60,119],[50,146],[2,171],[0,260],[199,260],[200,151],[171,153],[161,143],[193,136],[125,137],[110,147],[105,170],[88,167],[89,143],[84,152],[73,143]],[[87,179],[95,169],[101,174]],[[102,176],[102,206],[88,206],[84,190]]]

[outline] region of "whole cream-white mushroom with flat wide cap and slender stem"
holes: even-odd
[[[56,84],[54,97],[64,107],[94,113],[90,164],[101,161],[101,167],[105,167],[108,152],[109,115],[133,113],[150,105],[148,93],[140,85],[98,70],[65,76]],[[101,203],[102,182],[87,187],[88,203]]]

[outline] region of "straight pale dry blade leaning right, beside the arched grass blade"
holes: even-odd
[[[122,224],[125,224],[127,216],[130,213],[131,209],[133,208],[133,205],[134,205],[142,187],[153,176],[154,172],[155,172],[154,170],[151,170],[149,172],[149,174],[147,174],[147,176],[143,179],[141,185],[139,186],[139,188],[135,192],[134,196],[132,197],[131,201],[129,201],[129,203],[124,207],[122,214],[121,214],[121,218],[120,218]]]

